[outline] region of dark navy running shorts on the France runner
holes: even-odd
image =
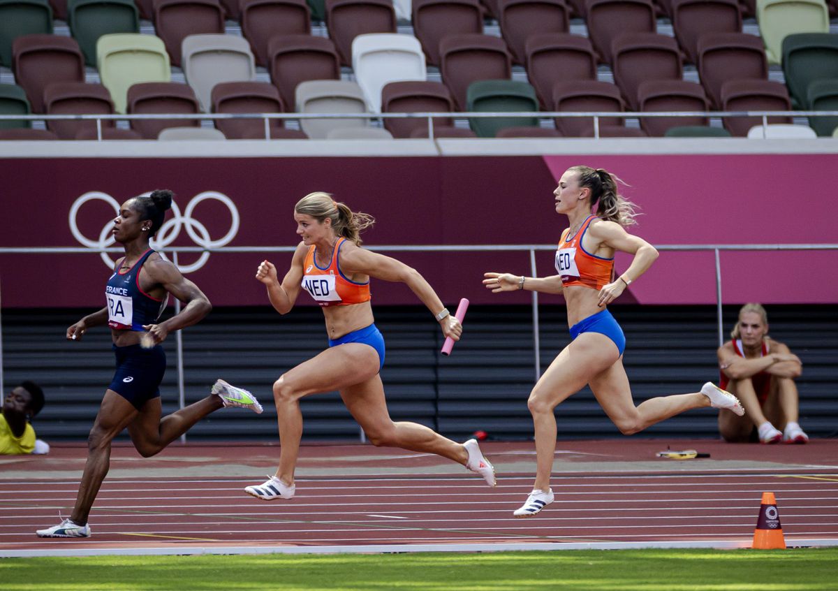
[[[143,349],[140,345],[117,347],[116,373],[109,390],[131,402],[137,410],[152,398],[160,396],[160,382],[166,373],[166,352],[161,345]]]

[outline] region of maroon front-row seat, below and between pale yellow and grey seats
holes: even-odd
[[[180,82],[142,82],[128,89],[128,112],[136,115],[197,115],[192,87]],[[200,127],[198,119],[132,119],[131,127],[146,139],[157,139],[167,127]]]

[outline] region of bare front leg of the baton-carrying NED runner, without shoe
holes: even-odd
[[[279,480],[286,485],[294,482],[300,438],[303,437],[300,398],[365,382],[378,373],[378,367],[378,355],[370,345],[347,343],[303,361],[274,382],[273,400],[277,405],[280,443]]]

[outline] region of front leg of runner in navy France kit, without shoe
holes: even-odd
[[[93,423],[91,434],[87,438],[87,462],[84,474],[81,475],[73,513],[70,515],[74,523],[80,526],[87,523],[93,501],[111,466],[111,441],[136,416],[137,409],[131,402],[115,391],[105,392],[96,422]]]

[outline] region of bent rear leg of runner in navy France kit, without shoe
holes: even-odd
[[[224,403],[220,397],[208,396],[161,419],[163,408],[160,398],[152,398],[142,405],[137,417],[128,424],[128,434],[140,455],[150,458],[221,407]]]

